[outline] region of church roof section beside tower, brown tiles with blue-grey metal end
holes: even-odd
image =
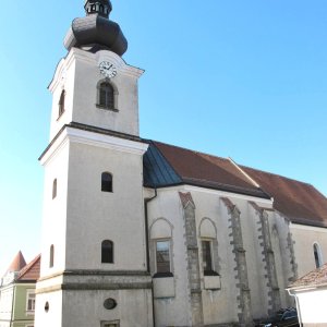
[[[145,185],[191,184],[268,198],[225,158],[152,142],[145,155]]]

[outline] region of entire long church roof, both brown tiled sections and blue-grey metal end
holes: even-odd
[[[294,223],[327,227],[327,198],[314,186],[253,168],[231,159],[148,141],[144,156],[144,185],[191,184],[274,198],[274,208]]]

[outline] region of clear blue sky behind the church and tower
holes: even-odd
[[[0,12],[0,274],[40,252],[47,86],[83,0]],[[327,195],[326,0],[112,0],[140,81],[141,136],[230,156]]]

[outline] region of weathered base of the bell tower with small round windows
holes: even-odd
[[[65,271],[41,279],[35,327],[152,327],[152,278],[144,271]]]

